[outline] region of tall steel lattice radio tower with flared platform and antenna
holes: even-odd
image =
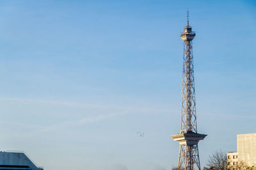
[[[197,133],[196,100],[192,40],[196,33],[189,26],[187,12],[187,26],[180,37],[184,41],[182,102],[180,118],[180,134],[172,135],[174,141],[180,144],[178,169],[193,170],[194,164],[200,169],[198,142],[205,138],[205,134]]]

